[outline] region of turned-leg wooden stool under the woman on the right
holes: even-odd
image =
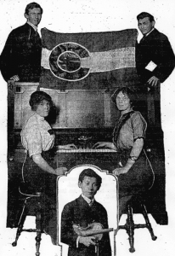
[[[143,214],[145,224],[134,224],[133,222],[133,213],[135,213],[133,211],[134,209],[137,211],[137,213]],[[118,230],[127,231],[127,235],[129,236],[129,244],[130,244],[129,252],[130,253],[135,252],[135,248],[133,246],[135,229],[147,228],[150,231],[150,236],[152,240],[155,241],[157,239],[157,236],[154,235],[152,226],[150,224],[150,219],[148,217],[147,209],[144,204],[144,195],[135,195],[133,199],[128,202],[127,210],[126,212],[123,212],[123,213],[127,213],[126,224],[124,225],[119,224]]]

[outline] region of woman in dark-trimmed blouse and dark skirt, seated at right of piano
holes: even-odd
[[[125,211],[132,196],[150,189],[154,172],[144,151],[147,123],[138,111],[133,110],[136,98],[133,90],[122,87],[112,95],[112,101],[121,112],[113,131],[112,142],[99,142],[93,148],[111,148],[117,151],[117,165],[113,174],[119,181],[119,217]]]

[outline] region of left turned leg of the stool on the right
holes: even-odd
[[[134,241],[134,223],[133,223],[133,209],[130,205],[127,207],[127,234],[129,236],[129,252],[134,253],[135,249],[133,247],[133,241]]]

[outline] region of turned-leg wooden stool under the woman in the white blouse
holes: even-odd
[[[22,211],[20,213],[20,219],[17,226],[16,231],[16,237],[15,241],[12,243],[12,246],[15,247],[17,245],[17,241],[20,237],[21,232],[36,232],[36,256],[39,256],[39,248],[40,248],[40,242],[42,240],[41,236],[43,233],[42,229],[42,193],[37,192],[33,195],[27,195],[20,191],[21,201],[22,201]],[[35,216],[36,217],[36,229],[23,229],[23,226],[25,224],[25,218],[26,216]]]

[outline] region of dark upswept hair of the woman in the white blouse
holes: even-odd
[[[31,94],[31,98],[29,104],[31,106],[31,110],[36,111],[37,105],[39,105],[43,100],[49,102],[50,107],[53,106],[53,101],[51,96],[49,96],[45,91],[36,90]]]

